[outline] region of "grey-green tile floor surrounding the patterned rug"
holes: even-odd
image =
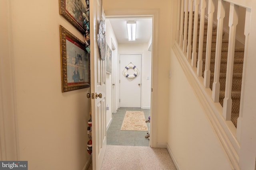
[[[145,138],[148,131],[121,131],[121,126],[124,120],[126,111],[143,111],[145,119],[150,116],[150,109],[141,108],[119,108],[116,113],[113,113],[112,122],[107,131],[107,145],[122,145],[122,146],[149,146],[149,140]],[[146,123],[148,130],[150,123]]]

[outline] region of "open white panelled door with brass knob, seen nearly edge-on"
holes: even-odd
[[[100,22],[100,1],[90,1],[90,71],[91,71],[91,106],[92,106],[92,166],[100,170],[106,150],[106,69],[101,60],[97,33]],[[102,97],[97,97],[101,94]],[[85,144],[86,145],[86,144]]]

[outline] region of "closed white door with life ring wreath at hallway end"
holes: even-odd
[[[141,55],[120,55],[120,107],[140,108],[140,100]]]

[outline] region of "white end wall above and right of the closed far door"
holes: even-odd
[[[141,108],[150,109],[151,95],[151,52],[148,44],[119,44],[119,54],[142,54],[141,70]],[[119,70],[120,71],[120,70]],[[147,80],[149,76],[149,80]]]

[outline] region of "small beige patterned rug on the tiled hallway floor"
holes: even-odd
[[[126,111],[121,131],[148,131],[143,111]]]

